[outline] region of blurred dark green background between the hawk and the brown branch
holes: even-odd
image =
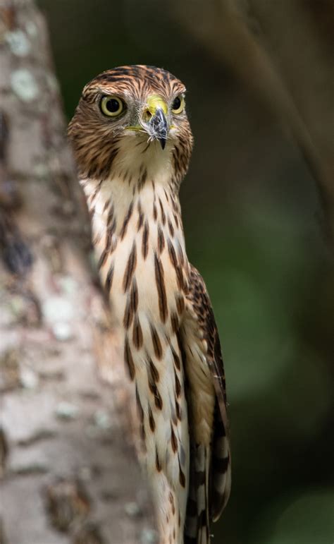
[[[187,85],[187,252],[214,303],[233,446],[233,490],[214,543],[333,543],[333,258],[302,155],[168,1],[39,6],[68,119],[106,68],[153,64]]]

